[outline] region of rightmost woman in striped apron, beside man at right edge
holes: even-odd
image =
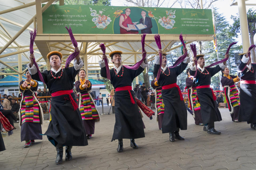
[[[235,83],[239,82],[239,78],[235,75],[229,75],[229,68],[221,70],[222,78],[221,84],[224,87],[225,98],[229,107],[229,113],[232,121],[238,122],[238,112],[240,108],[240,98]]]

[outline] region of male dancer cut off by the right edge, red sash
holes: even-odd
[[[247,53],[239,54],[241,62],[237,70],[245,70],[238,73],[240,78],[240,108],[238,121],[247,121],[251,128],[256,130],[256,64],[251,63],[251,57]],[[255,69],[255,70],[254,70]]]

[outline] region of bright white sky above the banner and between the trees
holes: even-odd
[[[136,1],[136,0],[134,0]],[[170,2],[169,2],[170,1]],[[163,0],[160,0],[160,2],[163,2]],[[166,3],[165,3],[166,2]],[[169,2],[169,6],[173,0],[165,0],[163,5],[161,7],[166,7],[167,3]],[[227,21],[231,24],[233,24],[233,20],[230,19],[231,15],[236,15],[238,13],[238,6],[230,6],[231,0],[219,0],[212,4],[212,6],[219,8],[219,13],[223,13],[223,15],[226,17]],[[246,3],[254,3],[255,0],[248,0]],[[111,0],[111,6],[134,6],[129,5],[125,0]],[[181,6],[176,3],[172,8],[181,8]],[[256,10],[256,6],[246,6],[246,11],[250,8],[254,8]],[[256,34],[255,34],[256,36]],[[254,40],[256,37],[254,36]],[[239,35],[239,37],[236,39],[238,41],[238,44],[242,44],[242,38]]]

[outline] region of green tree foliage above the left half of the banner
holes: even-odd
[[[56,4],[59,4],[57,2]],[[64,0],[65,5],[106,5],[110,6],[110,0]]]

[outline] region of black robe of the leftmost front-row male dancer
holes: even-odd
[[[60,79],[54,79],[51,71],[48,70],[43,71],[42,76],[52,94],[61,90],[72,90],[78,72],[79,70],[75,70],[74,67],[69,67],[68,69],[63,68],[63,75]],[[59,77],[61,70],[56,74],[52,73],[55,77]],[[32,75],[32,78],[40,81],[38,73]],[[71,96],[76,101],[75,94],[71,93]],[[47,135],[48,140],[54,146],[57,144],[66,146],[88,145],[79,108],[74,111],[69,95],[51,98],[51,121],[44,135]]]

